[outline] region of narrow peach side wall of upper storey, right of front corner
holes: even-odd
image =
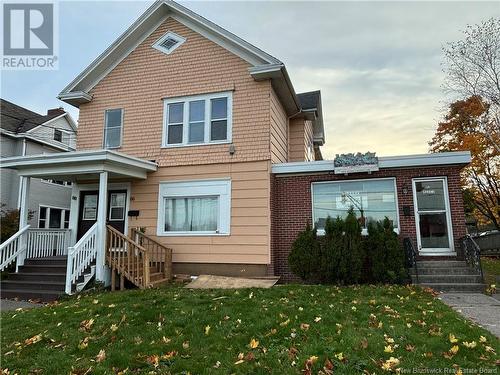
[[[288,116],[276,93],[271,89],[271,162],[288,161]]]

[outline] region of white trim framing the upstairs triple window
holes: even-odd
[[[227,99],[227,138],[224,140],[211,141],[211,99],[226,98]],[[205,101],[205,118],[204,118],[204,140],[203,142],[189,142],[189,102],[198,100]],[[183,118],[182,118],[182,142],[168,143],[168,105],[174,103],[184,103]],[[177,96],[163,99],[163,132],[162,132],[162,148],[176,147],[193,147],[193,146],[209,146],[228,144],[232,142],[233,137],[233,92],[223,91],[209,94],[199,94],[190,96]]]

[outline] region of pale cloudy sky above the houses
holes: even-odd
[[[468,24],[500,17],[498,2],[180,1],[283,61],[297,93],[321,90],[323,156],[428,152],[450,97],[442,47]],[[59,2],[59,69],[3,71],[1,97],[39,113],[151,1]]]

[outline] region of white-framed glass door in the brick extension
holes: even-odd
[[[422,255],[454,252],[446,178],[413,180],[417,242]]]

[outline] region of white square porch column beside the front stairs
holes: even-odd
[[[108,286],[111,283],[111,273],[106,267],[106,211],[108,207],[108,172],[99,174],[99,203],[97,207],[97,256],[96,256],[96,280],[104,282]]]

